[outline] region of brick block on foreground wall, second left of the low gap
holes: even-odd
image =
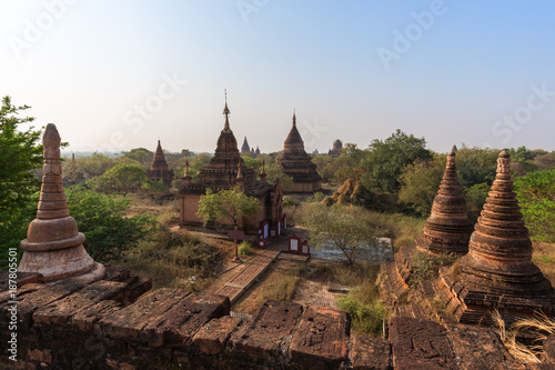
[[[301,304],[265,301],[252,319],[233,333],[230,351],[263,361],[280,358],[301,313]]]

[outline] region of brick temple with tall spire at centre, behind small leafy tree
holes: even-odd
[[[261,204],[258,214],[240,221],[240,228],[251,233],[258,233],[262,224],[268,222],[273,230],[281,230],[283,226],[283,191],[280,183],[279,181],[274,184],[268,183],[264,167],[256,179],[254,170],[244,164],[238,149],[238,141],[230,128],[230,110],[226,101],[223,113],[225,123],[210,164],[200,169],[196,182],[192,182],[189,169],[185,169],[183,188],[179,196],[180,226],[202,226],[202,219],[196,216],[196,210],[200,198],[206,193],[206,189],[219,191],[239,186],[245,194],[258,198]]]

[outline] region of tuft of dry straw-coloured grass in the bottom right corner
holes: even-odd
[[[555,321],[547,318],[544,312],[536,312],[533,318],[522,318],[516,320],[511,328],[505,327],[505,321],[501,317],[500,312],[495,310],[492,313],[492,319],[495,327],[497,328],[497,333],[508,352],[518,361],[528,362],[542,362],[545,358],[543,353],[543,346],[536,344],[532,347],[524,346],[516,341],[516,336],[518,332],[526,332],[534,334],[534,342],[543,343],[543,341],[555,333]]]

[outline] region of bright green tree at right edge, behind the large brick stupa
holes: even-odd
[[[555,242],[555,170],[516,178],[514,189],[531,238]]]

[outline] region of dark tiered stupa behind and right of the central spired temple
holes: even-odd
[[[289,132],[283,151],[276,160],[283,172],[293,178],[292,192],[314,192],[322,189],[322,178],[316,172],[316,164],[304,151],[304,142],[296,129],[296,117],[293,113],[293,127]]]

